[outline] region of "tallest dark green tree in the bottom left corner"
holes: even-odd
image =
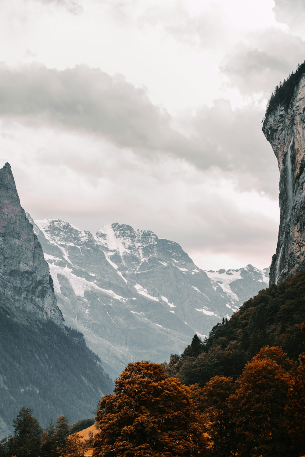
[[[18,457],[39,457],[42,428],[32,409],[21,408],[13,420],[14,436],[9,439],[9,455]]]

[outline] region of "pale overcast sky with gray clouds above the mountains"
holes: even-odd
[[[262,119],[305,60],[302,0],[0,6],[0,166],[34,219],[149,229],[206,270],[270,265]]]

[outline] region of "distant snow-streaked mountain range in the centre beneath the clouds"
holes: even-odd
[[[168,360],[242,303],[242,285],[235,290],[230,282],[225,290],[221,271],[211,280],[213,273],[195,266],[179,244],[149,230],[113,223],[94,236],[61,220],[28,218],[66,324],[84,334],[114,377],[130,361]],[[258,282],[262,275],[252,280],[255,293],[267,287]]]

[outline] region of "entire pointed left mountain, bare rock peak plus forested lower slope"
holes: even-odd
[[[64,326],[43,250],[9,164],[0,170],[0,436],[22,406],[43,425],[92,415],[113,383],[84,337]]]

